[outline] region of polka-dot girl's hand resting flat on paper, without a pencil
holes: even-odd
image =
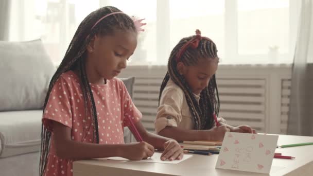
[[[176,140],[168,140],[164,143],[164,151],[161,155],[161,160],[181,160],[184,156],[183,149]]]

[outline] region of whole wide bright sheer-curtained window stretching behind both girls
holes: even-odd
[[[73,34],[93,10],[115,6],[144,17],[146,31],[129,64],[165,65],[178,41],[202,31],[221,64],[291,63],[297,0],[11,0],[10,41],[41,38],[58,64]]]

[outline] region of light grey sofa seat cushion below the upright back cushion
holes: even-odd
[[[42,110],[0,112],[0,158],[40,149]]]

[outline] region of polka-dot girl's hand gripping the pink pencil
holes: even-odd
[[[146,142],[137,142],[125,144],[125,150],[121,157],[128,160],[144,160],[151,157],[154,153],[154,147]]]

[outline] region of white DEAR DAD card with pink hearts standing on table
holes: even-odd
[[[269,173],[278,136],[226,132],[215,168]]]

